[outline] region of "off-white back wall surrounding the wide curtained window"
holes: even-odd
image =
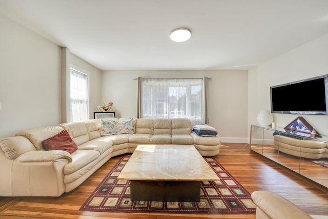
[[[245,70],[104,71],[101,101],[113,102],[116,117],[136,117],[137,80],[208,76],[209,121],[222,142],[247,142],[248,74]],[[100,104],[100,103],[99,103]]]

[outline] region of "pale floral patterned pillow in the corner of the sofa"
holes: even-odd
[[[101,118],[99,131],[101,136],[134,133],[132,118],[128,120],[109,120],[107,118]]]

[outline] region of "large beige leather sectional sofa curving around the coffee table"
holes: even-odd
[[[124,120],[124,118],[113,118]],[[60,196],[83,183],[111,157],[139,144],[194,145],[203,156],[219,153],[221,138],[192,132],[190,120],[133,118],[133,133],[101,136],[100,120],[34,128],[0,139],[0,196]],[[42,141],[66,130],[77,145],[69,153],[45,150]]]

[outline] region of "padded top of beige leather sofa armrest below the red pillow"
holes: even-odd
[[[19,155],[15,162],[29,163],[29,162],[52,162],[66,159],[72,161],[72,155],[67,151],[52,150],[52,151],[29,151]]]

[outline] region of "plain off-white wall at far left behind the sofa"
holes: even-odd
[[[58,124],[60,47],[0,14],[0,136]]]

